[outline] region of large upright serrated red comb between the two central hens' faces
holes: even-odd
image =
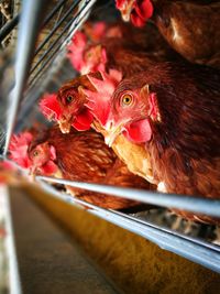
[[[118,70],[110,69],[109,75],[100,72],[102,79],[97,79],[88,75],[88,79],[97,91],[82,89],[87,96],[86,106],[91,110],[94,117],[105,126],[110,110],[110,98],[122,78],[122,74]]]

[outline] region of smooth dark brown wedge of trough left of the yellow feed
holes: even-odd
[[[24,192],[10,196],[23,294],[121,293]]]

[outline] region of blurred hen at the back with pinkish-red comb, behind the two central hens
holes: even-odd
[[[68,46],[67,56],[74,68],[82,75],[118,69],[124,76],[147,69],[154,62],[180,58],[151,25],[143,33],[134,35],[132,37],[131,33],[130,39],[129,33],[127,37],[105,37],[100,43],[90,44],[82,32],[77,32]],[[147,42],[147,35],[152,35],[153,41]],[[145,47],[140,46],[141,43],[146,43]]]

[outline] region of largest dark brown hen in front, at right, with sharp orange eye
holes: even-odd
[[[98,85],[105,87],[106,83]],[[219,85],[218,69],[188,63],[161,63],[122,80],[111,97],[103,126],[106,142],[112,145],[123,134],[138,145],[144,143],[154,182],[165,193],[219,198]]]

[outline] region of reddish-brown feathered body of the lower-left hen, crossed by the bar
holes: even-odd
[[[58,127],[48,129],[35,139],[30,152],[43,142],[48,142],[56,150],[56,164],[66,179],[88,183],[101,183],[122,187],[153,188],[143,178],[133,175],[117,157],[114,152],[105,144],[100,133],[95,131],[61,133]],[[140,203],[109,195],[67,186],[76,197],[103,208],[124,209],[140,206]],[[146,208],[146,206],[143,206]]]

